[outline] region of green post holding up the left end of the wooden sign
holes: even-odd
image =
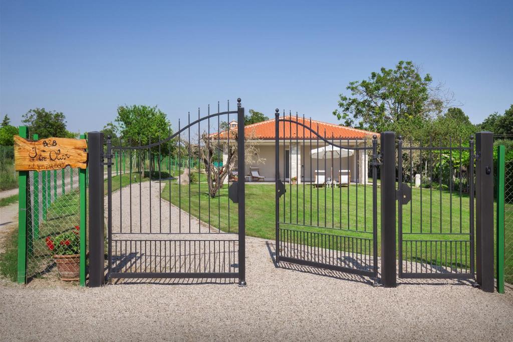
[[[19,126],[19,136],[27,138],[28,129],[26,126]],[[27,281],[27,185],[28,171],[18,173],[18,284],[25,284]]]

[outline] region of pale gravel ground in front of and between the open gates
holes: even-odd
[[[152,197],[159,203],[155,186]],[[142,195],[149,196],[149,185],[146,190]],[[173,208],[166,219],[175,219],[178,209]],[[113,222],[116,225],[120,220]],[[143,231],[145,227],[143,223]],[[246,241],[245,288],[233,280],[206,279],[133,279],[95,289],[4,281],[0,336],[23,340],[48,336],[52,340],[513,340],[513,289],[507,288],[504,295],[489,294],[466,281],[419,279],[402,280],[399,287],[385,289],[357,275],[286,263],[278,267],[272,241],[254,237]]]

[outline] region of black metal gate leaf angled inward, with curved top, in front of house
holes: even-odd
[[[276,261],[377,278],[377,136],[320,124],[276,110]]]

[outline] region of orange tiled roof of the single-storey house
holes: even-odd
[[[285,118],[285,120],[292,120],[293,122],[280,122],[279,128],[280,128],[280,138],[283,139],[295,139],[298,137],[299,139],[303,139],[303,136],[305,139],[309,139],[310,137],[312,139],[317,138],[314,133],[312,133],[308,127],[311,128],[311,130],[317,132],[320,136],[326,137],[330,139],[333,137],[334,139],[341,139],[341,138],[369,138],[372,137],[372,135],[376,134],[379,136],[379,133],[375,132],[369,132],[361,129],[351,128],[351,127],[345,127],[340,126],[336,124],[328,124],[324,123],[318,120],[310,120],[306,119],[303,121],[302,117],[295,117],[295,116],[281,116],[280,119]],[[295,123],[295,121],[298,121],[298,124]],[[274,139],[275,137],[275,122],[274,119],[270,119],[267,121],[263,121],[256,124],[247,125],[245,127],[245,135],[246,137],[254,137],[255,139]],[[306,126],[306,128],[304,126]],[[284,127],[285,127],[285,134],[284,134]],[[212,135],[215,135],[212,134]],[[226,137],[226,131],[221,132],[221,138]]]

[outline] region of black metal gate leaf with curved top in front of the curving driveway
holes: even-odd
[[[230,117],[230,114],[236,114]],[[107,139],[108,276],[245,281],[244,108],[165,139]],[[231,119],[238,121],[232,127]],[[144,142],[145,144],[142,144]],[[113,166],[119,170],[113,176]],[[229,187],[228,187],[229,186]]]

